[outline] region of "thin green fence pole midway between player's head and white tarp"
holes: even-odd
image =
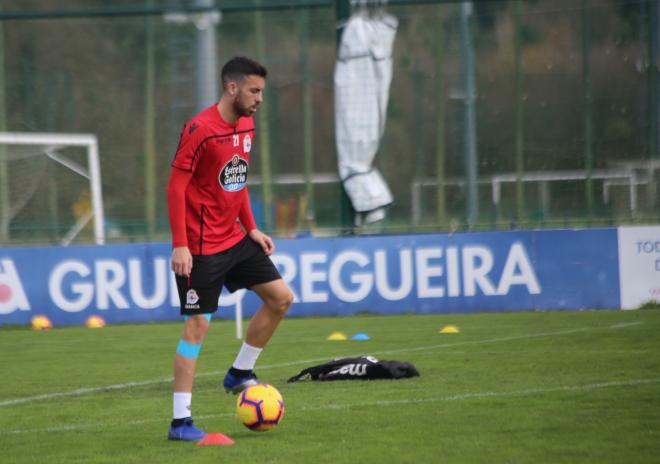
[[[316,212],[314,202],[314,127],[312,118],[312,88],[309,72],[309,10],[302,10],[300,21],[300,66],[302,70],[303,91],[303,152],[305,158],[305,211],[304,220],[307,227],[314,224]]]

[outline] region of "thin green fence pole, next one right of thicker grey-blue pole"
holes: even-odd
[[[525,215],[525,108],[523,105],[523,60],[522,60],[522,9],[523,2],[517,0],[513,14],[514,26],[514,53],[516,73],[516,216],[520,221]]]

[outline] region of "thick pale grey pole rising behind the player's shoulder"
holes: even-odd
[[[213,0],[195,0],[199,7],[213,6]],[[200,13],[195,21],[197,27],[197,101],[195,109],[201,111],[218,101],[218,62],[216,53],[215,24],[218,12]]]

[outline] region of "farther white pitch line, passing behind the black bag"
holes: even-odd
[[[467,345],[485,345],[489,343],[500,343],[500,342],[508,342],[508,341],[514,341],[514,340],[524,340],[524,339],[530,339],[530,338],[539,338],[539,337],[552,337],[556,335],[572,335],[575,333],[581,333],[581,332],[592,332],[594,330],[601,330],[601,329],[621,329],[625,327],[631,327],[631,326],[636,326],[636,325],[641,325],[643,322],[629,322],[629,323],[622,323],[622,324],[615,324],[611,325],[608,327],[582,327],[582,328],[577,328],[577,329],[568,329],[568,330],[559,330],[556,332],[542,332],[542,333],[537,333],[537,334],[526,334],[526,335],[514,335],[511,337],[499,337],[499,338],[491,338],[487,340],[475,340],[475,341],[469,341],[469,342],[456,342],[456,343],[442,343],[438,345],[426,345],[426,346],[418,346],[418,347],[413,347],[413,348],[402,348],[400,350],[382,350],[382,351],[374,351],[370,353],[371,355],[383,355],[383,354],[399,354],[399,353],[409,353],[413,351],[425,351],[425,350],[434,350],[434,349],[440,349],[440,348],[452,348],[455,346],[467,346]],[[355,354],[352,356],[362,356],[364,353],[359,353]],[[351,355],[346,355],[346,357],[349,357]],[[311,358],[311,359],[303,359],[303,360],[298,360],[298,361],[291,361],[291,362],[286,362],[286,363],[278,363],[278,364],[271,364],[271,365],[266,365],[266,366],[259,366],[259,370],[264,370],[264,369],[275,369],[279,367],[290,367],[290,366],[297,366],[300,364],[309,364],[313,362],[322,362],[322,361],[328,361],[327,357],[324,358]],[[221,375],[224,374],[225,371],[214,371],[214,372],[205,372],[205,373],[199,373],[196,375],[196,377],[211,377],[211,376],[216,376],[216,375]],[[32,396],[26,396],[23,398],[16,398],[13,400],[4,400],[0,401],[0,408],[5,408],[8,406],[16,406],[19,404],[25,404],[25,403],[30,403],[32,401],[41,401],[41,400],[50,400],[53,398],[61,398],[61,397],[67,397],[67,396],[81,396],[81,395],[86,395],[90,393],[99,393],[99,392],[106,392],[106,391],[112,391],[112,390],[124,390],[128,388],[134,388],[134,387],[143,387],[146,385],[154,385],[154,384],[159,384],[159,383],[170,383],[173,381],[172,377],[168,378],[160,378],[160,379],[151,379],[151,380],[144,380],[140,382],[127,382],[127,383],[120,383],[120,384],[115,384],[115,385],[105,385],[101,387],[88,387],[88,388],[78,388],[76,390],[70,390],[66,392],[51,392],[51,393],[43,393],[40,395],[32,395]]]

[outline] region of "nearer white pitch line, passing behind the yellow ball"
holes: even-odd
[[[359,403],[343,403],[333,405],[323,405],[315,407],[302,407],[298,411],[323,411],[323,410],[344,410],[352,408],[363,408],[371,406],[396,406],[406,404],[422,404],[422,403],[439,403],[449,401],[465,401],[470,399],[479,398],[508,398],[517,396],[538,396],[547,393],[562,393],[573,391],[593,391],[603,388],[613,387],[635,387],[640,385],[652,385],[660,383],[660,378],[656,379],[634,379],[634,380],[616,380],[612,382],[591,383],[586,385],[564,385],[551,388],[529,388],[526,390],[513,390],[513,391],[486,391],[486,392],[466,392],[459,395],[440,396],[431,398],[418,398],[418,399],[403,399],[403,400],[381,400],[381,401],[360,401]],[[197,416],[196,419],[212,419],[218,417],[232,417],[234,413],[220,413],[220,414],[206,414]],[[17,429],[0,431],[0,436],[3,435],[20,435],[24,433],[58,433],[58,432],[71,432],[80,430],[89,430],[95,428],[108,428],[108,427],[131,427],[135,425],[144,425],[155,422],[162,422],[162,418],[132,420],[115,423],[88,423],[88,424],[70,424],[59,427],[46,427],[37,429]]]

